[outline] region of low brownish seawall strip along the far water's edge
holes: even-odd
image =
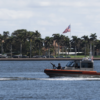
[[[66,60],[82,60],[82,58],[0,58],[0,61],[66,61]],[[93,60],[100,60],[100,58],[94,58]]]

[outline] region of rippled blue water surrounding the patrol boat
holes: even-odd
[[[0,61],[0,100],[99,100],[100,78],[49,78],[43,71],[67,61]],[[100,72],[100,61],[94,70]]]

